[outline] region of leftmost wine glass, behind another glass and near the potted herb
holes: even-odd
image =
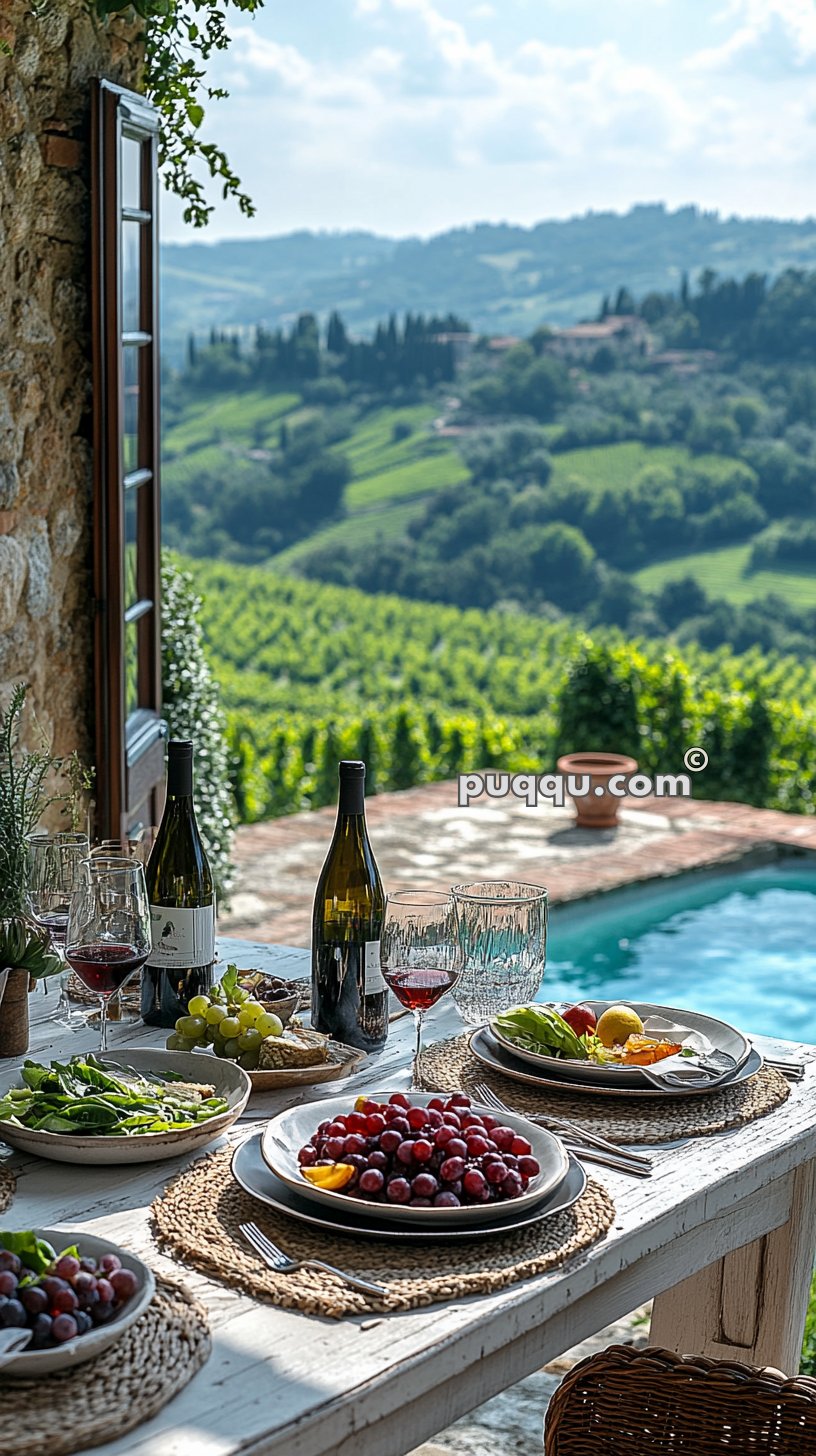
[[[58,834],[35,830],[26,839],[28,906],[34,920],[47,930],[58,954],[64,954],[68,904],[79,884],[80,865],[89,853],[87,834],[73,830],[61,830]],[[57,1009],[51,1012],[51,1019],[76,1029],[85,1026],[86,1018],[85,1012],[76,1010],[68,1000],[68,976],[66,967],[57,977],[60,1000]]]

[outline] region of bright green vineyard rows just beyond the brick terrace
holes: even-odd
[[[548,772],[558,702],[592,648],[568,623],[366,596],[264,568],[184,562],[221,686],[243,820],[331,802],[337,760],[363,757],[373,791],[485,767]],[[679,773],[710,754],[694,792],[813,811],[816,664],[726,649],[682,654],[596,633],[609,671],[634,684],[637,756]],[[593,705],[590,705],[590,713]]]

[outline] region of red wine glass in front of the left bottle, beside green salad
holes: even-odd
[[[99,997],[99,1051],[108,1050],[108,1000],[150,955],[144,869],[128,859],[86,859],[68,913],[66,960]]]

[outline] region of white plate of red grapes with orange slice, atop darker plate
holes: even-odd
[[[302,1197],[424,1226],[491,1223],[565,1178],[552,1133],[465,1092],[367,1092],[290,1108],[264,1128],[268,1168]]]

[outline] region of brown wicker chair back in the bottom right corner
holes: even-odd
[[[813,1456],[816,1380],[611,1345],[570,1372],[545,1456]]]

